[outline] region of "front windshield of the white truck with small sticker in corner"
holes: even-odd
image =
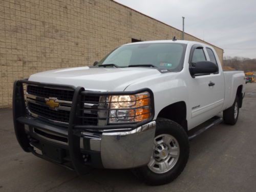
[[[125,45],[112,51],[97,66],[157,67],[180,71],[183,68],[185,49],[185,44],[178,43]]]

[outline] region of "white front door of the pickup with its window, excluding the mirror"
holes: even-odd
[[[202,45],[194,45],[189,55],[189,65],[198,61],[211,61],[219,67],[218,73],[208,75],[190,76],[189,100],[190,122],[189,127],[195,127],[214,117],[222,110],[225,93],[224,75],[220,70],[214,51]]]

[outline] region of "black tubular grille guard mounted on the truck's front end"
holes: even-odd
[[[43,158],[45,160],[51,161],[56,163],[55,161],[47,158],[43,155],[40,155],[35,152],[33,146],[30,144],[30,141],[27,137],[25,132],[25,124],[20,121],[20,118],[27,117],[27,109],[25,104],[25,94],[24,94],[24,86],[23,84],[32,84],[41,87],[47,88],[59,88],[59,89],[68,89],[74,91],[74,96],[72,100],[72,106],[70,111],[70,118],[69,118],[69,126],[68,126],[68,148],[70,153],[70,159],[73,164],[74,169],[79,175],[86,174],[89,172],[91,167],[84,164],[81,151],[80,151],[80,137],[81,132],[85,130],[104,130],[106,132],[114,132],[117,129],[130,129],[130,131],[136,129],[138,126],[146,124],[153,120],[154,118],[154,95],[150,89],[142,89],[138,91],[132,92],[89,92],[85,91],[82,87],[74,87],[69,85],[62,85],[62,84],[54,84],[54,83],[40,83],[35,81],[29,81],[28,79],[17,80],[14,82],[13,87],[13,123],[14,123],[14,131],[16,138],[18,140],[19,145],[23,148],[25,152],[31,152],[34,155]],[[123,94],[137,94],[143,91],[147,91],[150,93],[151,97],[151,118],[148,121],[143,121],[140,123],[133,123],[133,124],[115,124],[115,125],[106,125],[106,126],[94,126],[94,125],[82,125],[82,120],[79,118],[79,113],[82,108],[82,96],[84,95],[123,95]],[[109,130],[109,131],[108,131]],[[59,164],[59,163],[57,163]],[[69,166],[60,164],[61,166],[67,167],[72,169]]]

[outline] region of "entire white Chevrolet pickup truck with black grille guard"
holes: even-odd
[[[137,42],[91,67],[16,81],[14,129],[24,151],[78,174],[133,168],[159,185],[181,174],[189,139],[222,120],[236,124],[244,92],[244,73],[223,72],[209,45]]]

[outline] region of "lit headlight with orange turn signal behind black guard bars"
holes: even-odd
[[[150,94],[113,95],[110,97],[109,123],[140,122],[150,119]]]

